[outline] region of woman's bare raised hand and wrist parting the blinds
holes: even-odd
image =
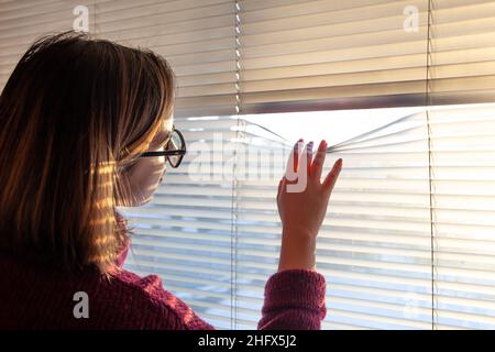
[[[296,143],[287,165],[287,172],[292,170],[290,174],[302,177],[288,180],[286,173],[278,184],[277,206],[283,223],[278,271],[315,270],[316,238],[327,213],[333,186],[342,169],[342,160],[340,158],[321,182],[327,143],[320,142],[315,157],[312,142],[308,143],[300,153],[302,145],[302,140]],[[290,187],[287,186],[292,186],[294,189],[290,191]]]

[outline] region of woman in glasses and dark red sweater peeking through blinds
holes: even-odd
[[[174,94],[161,56],[84,34],[42,37],[21,58],[0,97],[0,328],[213,329],[156,275],[122,268],[130,230],[116,207],[147,202],[184,154]],[[175,156],[153,154],[164,148]],[[279,267],[258,329],[319,329],[326,316],[314,253],[341,161],[320,183],[324,151],[301,154],[305,191],[280,180]]]

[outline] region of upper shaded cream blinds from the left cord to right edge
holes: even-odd
[[[244,113],[421,106],[428,37],[432,105],[495,99],[494,1],[250,0],[241,8]]]

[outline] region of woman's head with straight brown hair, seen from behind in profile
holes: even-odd
[[[150,199],[176,90],[147,50],[66,32],[36,41],[0,96],[0,249],[66,268],[112,268],[116,206]]]

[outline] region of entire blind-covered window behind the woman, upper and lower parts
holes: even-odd
[[[123,209],[128,268],[218,328],[254,328],[289,145],[324,138],[344,169],[318,240],[322,328],[495,328],[494,1],[0,0],[0,89],[76,19],[179,80],[190,152]]]

